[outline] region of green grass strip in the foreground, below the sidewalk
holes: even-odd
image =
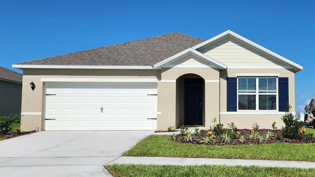
[[[242,167],[242,166],[223,166],[223,165],[202,165],[202,166],[174,166],[174,165],[131,165],[131,164],[113,164],[105,166],[106,169],[114,176],[134,176],[134,177],[314,177],[315,168],[278,168],[278,167]]]

